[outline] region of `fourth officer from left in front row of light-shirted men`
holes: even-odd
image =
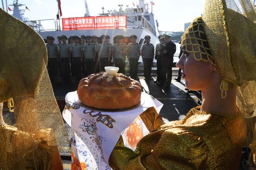
[[[84,45],[84,58],[87,76],[93,74],[94,58],[96,54],[95,46],[92,44],[92,36],[86,36],[87,44]]]

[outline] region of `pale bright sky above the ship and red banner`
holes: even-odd
[[[3,2],[5,6],[6,0]],[[123,4],[123,9],[126,5],[133,7],[133,2],[136,5],[138,0],[87,0],[91,16],[102,13],[102,7],[105,8],[106,13],[108,10],[118,10],[119,4]],[[150,0],[145,2],[150,4]],[[153,0],[153,2],[155,3],[153,13],[158,20],[160,31],[184,31],[184,23],[201,16],[204,6],[204,0]],[[13,0],[7,0],[8,5],[12,3]],[[19,0],[19,3],[26,4],[29,8],[30,11],[26,10],[25,16],[31,20],[56,19],[58,13],[56,0]],[[2,8],[1,2],[0,7]],[[23,8],[25,9],[25,6]],[[86,13],[84,0],[61,0],[61,9],[63,18],[83,17]]]

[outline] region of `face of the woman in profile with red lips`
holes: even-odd
[[[182,78],[190,90],[203,90],[211,85],[216,73],[210,62],[195,60],[194,54],[183,49],[182,56],[176,66],[182,69]]]

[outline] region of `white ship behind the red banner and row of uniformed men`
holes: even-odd
[[[49,20],[54,20],[55,25],[53,25],[54,29],[53,30],[36,30],[38,33],[42,36],[42,38],[46,38],[47,36],[52,36],[55,39],[57,39],[57,36],[65,35],[67,37],[69,36],[74,36],[77,35],[81,37],[81,35],[96,35],[100,37],[101,35],[109,35],[110,36],[110,42],[114,42],[114,37],[116,35],[123,35],[125,37],[125,41],[129,40],[129,37],[131,35],[136,35],[137,42],[139,44],[144,43],[144,37],[146,35],[149,35],[151,37],[151,42],[152,44],[156,45],[159,43],[158,40],[158,29],[157,29],[157,21],[155,20],[155,16],[153,13],[150,13],[148,11],[148,4],[144,3],[144,0],[139,0],[139,4],[134,7],[128,7],[123,10],[124,6],[123,5],[118,5],[120,7],[119,11],[116,10],[108,10],[107,13],[104,12],[104,7],[102,7],[102,14],[99,14],[98,16],[90,16],[89,14],[89,9],[87,5],[87,1],[85,0],[85,6],[86,6],[86,13],[85,17],[81,18],[70,18],[69,21],[71,22],[70,25],[72,29],[64,29],[63,20],[65,19],[49,19]],[[97,17],[113,17],[113,16],[125,16],[126,21],[125,21],[125,28],[123,27],[115,27],[115,28],[100,28],[97,25],[102,25],[102,23],[99,23],[99,19],[97,20]],[[80,28],[79,23],[83,21],[83,19],[87,19],[87,17],[94,17],[95,19],[95,25],[93,28],[88,29],[88,28]],[[73,20],[72,20],[73,19]],[[81,20],[79,20],[81,19]],[[37,20],[37,21],[32,21],[36,22],[37,24],[41,23],[42,21],[45,20]],[[67,21],[66,21],[67,22]],[[60,26],[58,26],[60,25]],[[58,31],[57,31],[58,30]],[[124,41],[124,42],[125,42]]]

